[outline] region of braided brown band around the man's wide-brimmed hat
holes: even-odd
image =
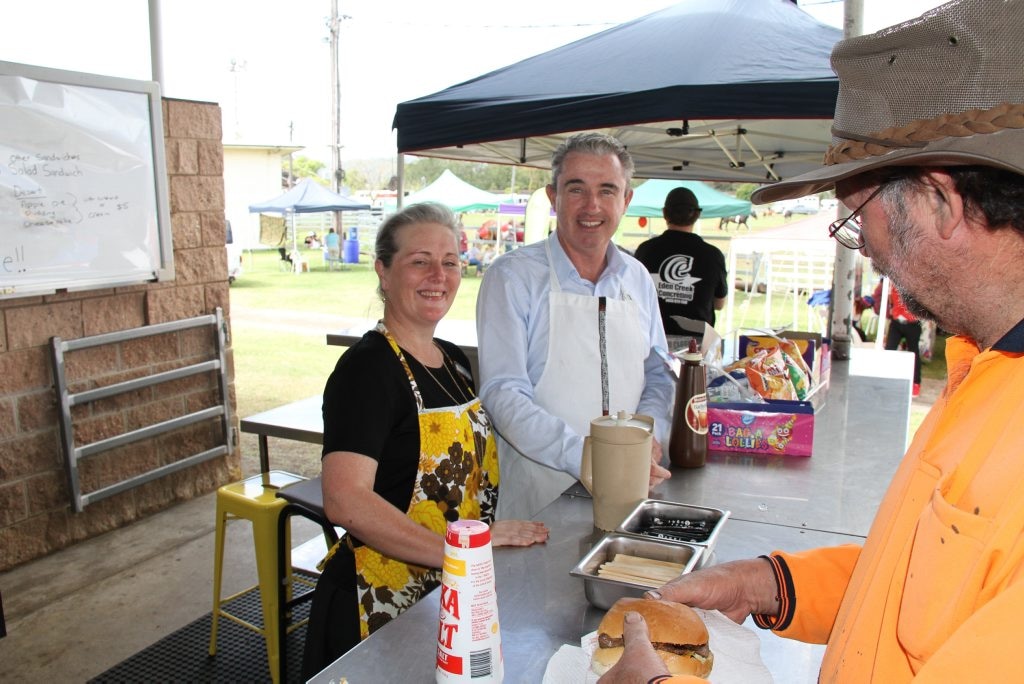
[[[942,138],[996,133],[1008,128],[1024,128],[1024,104],[1004,102],[989,110],[968,110],[934,119],[919,119],[871,135],[848,133],[833,127],[836,136],[846,139],[828,147],[824,164],[831,166],[881,157],[897,148],[924,147]]]

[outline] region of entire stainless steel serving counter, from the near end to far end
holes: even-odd
[[[712,563],[859,542],[904,451],[912,370],[910,354],[855,349],[853,359],[833,368],[815,416],[813,456],[713,454],[702,469],[674,470],[653,496],[732,512]],[[551,655],[579,644],[600,621],[582,582],[569,576],[601,535],[589,499],[577,491],[570,487],[537,516],[551,528],[548,544],[495,550],[507,682],[540,682]],[[312,681],[433,681],[437,615],[435,591]],[[755,632],[776,681],[816,681],[821,646]]]

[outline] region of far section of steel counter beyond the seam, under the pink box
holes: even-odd
[[[854,350],[838,361],[814,416],[809,458],[711,452],[673,470],[659,499],[727,508],[733,518],[864,537],[906,451],[913,356]],[[579,483],[569,491],[586,496]]]

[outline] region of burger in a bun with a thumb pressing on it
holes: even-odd
[[[690,607],[624,598],[598,627],[591,668],[599,675],[607,673],[601,681],[608,684],[646,682],[664,674],[707,677],[713,664],[708,628]]]

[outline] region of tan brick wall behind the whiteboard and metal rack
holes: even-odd
[[[115,495],[75,513],[67,483],[49,339],[76,339],[211,313],[229,313],[224,248],[220,108],[163,102],[175,279],[165,283],[0,300],[0,571],[175,502],[213,490],[241,473],[238,447],[182,472]],[[205,329],[71,352],[72,391],[209,357]],[[229,378],[231,352],[227,350]],[[130,430],[216,403],[213,374],[150,392],[76,408],[76,441]],[[234,416],[233,381],[230,385]],[[238,419],[233,419],[238,425]],[[83,490],[222,442],[215,423],[122,446],[82,462]]]

